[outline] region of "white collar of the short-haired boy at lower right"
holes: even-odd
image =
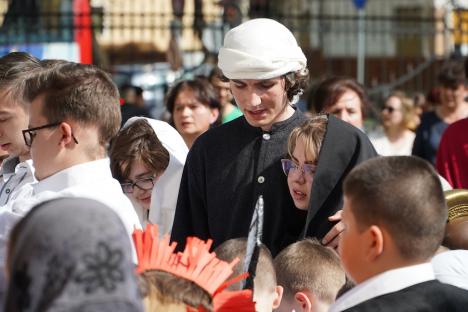
[[[389,270],[369,278],[346,292],[330,307],[330,312],[343,311],[372,298],[434,279],[431,263]]]

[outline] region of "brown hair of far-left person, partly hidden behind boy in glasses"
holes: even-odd
[[[0,58],[0,90],[5,91],[15,103],[28,109],[24,100],[25,79],[41,68],[37,58],[26,52],[11,52]]]

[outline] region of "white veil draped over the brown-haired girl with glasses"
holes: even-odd
[[[180,180],[188,148],[179,132],[164,121],[145,117],[132,117],[125,123],[123,128],[128,127],[139,119],[148,121],[159,141],[169,152],[169,165],[154,184],[151,193],[151,205],[148,217],[151,223],[158,224],[160,234],[165,234],[171,231],[174,222]],[[132,203],[144,228],[146,226],[144,210],[134,200],[132,200]]]

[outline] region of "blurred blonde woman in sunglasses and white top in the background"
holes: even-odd
[[[387,97],[381,113],[383,133],[369,134],[377,153],[382,156],[411,155],[417,127],[412,99],[401,91]]]

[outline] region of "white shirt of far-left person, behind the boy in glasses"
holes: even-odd
[[[31,195],[30,187],[22,187],[37,182],[31,159],[20,162],[18,157],[7,158],[2,164],[0,176],[0,206]]]

